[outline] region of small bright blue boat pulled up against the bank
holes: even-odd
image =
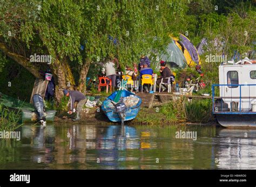
[[[118,91],[113,92],[109,97],[107,97],[104,102],[102,103],[102,110],[106,114],[107,118],[109,118],[113,122],[119,122],[122,121],[122,119],[119,116],[119,113],[116,112],[116,107],[112,106],[109,107],[109,103],[116,97]],[[121,98],[122,97],[129,97],[130,95],[134,95],[134,93],[127,91],[127,90],[122,90],[121,92]],[[134,97],[139,98],[139,102],[132,107],[125,107],[124,111],[124,121],[132,120],[134,119],[139,110],[140,110],[140,105],[142,104],[142,98],[138,97],[137,95],[134,95]]]

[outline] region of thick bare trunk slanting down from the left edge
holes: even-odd
[[[11,52],[3,43],[0,43],[0,49],[12,60],[18,62],[21,64],[21,66],[26,68],[33,76],[42,78],[39,73],[39,68],[34,66],[25,56]]]

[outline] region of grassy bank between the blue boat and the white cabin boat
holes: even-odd
[[[213,121],[211,99],[173,100],[151,109],[142,108],[134,120],[140,124],[176,124],[183,122],[209,123]]]

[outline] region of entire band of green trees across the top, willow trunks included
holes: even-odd
[[[57,92],[68,83],[85,91],[91,64],[113,56],[121,67],[137,63],[142,54],[165,51],[170,34],[192,42],[219,37],[227,53],[246,52],[255,41],[254,20],[252,1],[1,0],[0,70],[8,56],[35,77],[50,68]],[[52,62],[31,62],[33,54],[51,55]]]

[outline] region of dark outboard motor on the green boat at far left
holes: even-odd
[[[35,94],[33,95],[33,103],[37,111],[38,120],[40,120],[42,125],[46,125],[46,119],[44,117],[44,99],[41,95]]]

